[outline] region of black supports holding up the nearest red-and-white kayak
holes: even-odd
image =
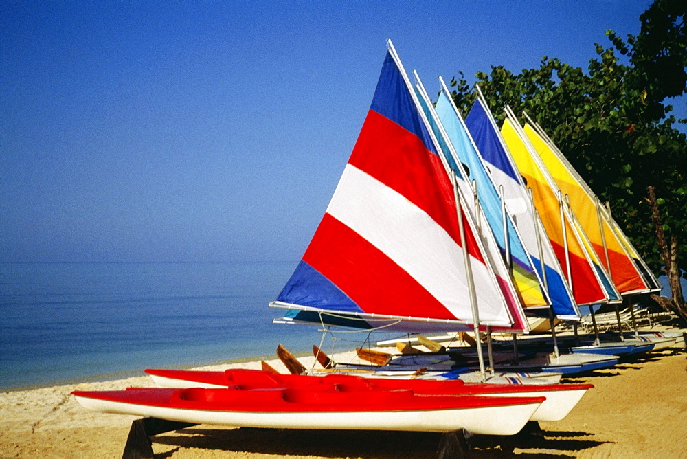
[[[122,459],[155,459],[151,436],[185,429],[197,424],[181,423],[178,421],[166,421],[158,418],[141,418],[131,423]],[[468,438],[472,434],[464,429],[442,434],[438,449],[437,459],[464,458],[470,449]]]

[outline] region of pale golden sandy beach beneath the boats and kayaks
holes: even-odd
[[[352,352],[335,355],[352,359]],[[595,388],[563,421],[540,423],[543,432],[473,437],[469,456],[678,458],[687,450],[687,353],[684,347],[651,352],[584,377],[563,381]],[[314,359],[300,359],[312,366]],[[280,372],[278,359],[268,363]],[[260,368],[247,362],[203,369]],[[73,390],[152,387],[147,376],[59,385],[0,394],[0,457],[117,458],[135,416],[82,408]],[[431,458],[440,434],[226,428],[198,425],[153,437],[159,458]]]

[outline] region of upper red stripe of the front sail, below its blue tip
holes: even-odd
[[[440,157],[414,133],[370,110],[348,163],[403,194],[461,245],[451,181]],[[465,228],[469,254],[484,263],[470,227]]]

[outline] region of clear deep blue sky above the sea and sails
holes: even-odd
[[[587,69],[650,0],[3,1],[0,261],[299,260],[392,38],[463,71]]]

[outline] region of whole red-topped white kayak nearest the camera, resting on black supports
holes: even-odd
[[[544,397],[427,396],[405,388],[308,383],[221,389],[72,392],[88,408],[168,421],[282,429],[363,429],[513,435]]]

